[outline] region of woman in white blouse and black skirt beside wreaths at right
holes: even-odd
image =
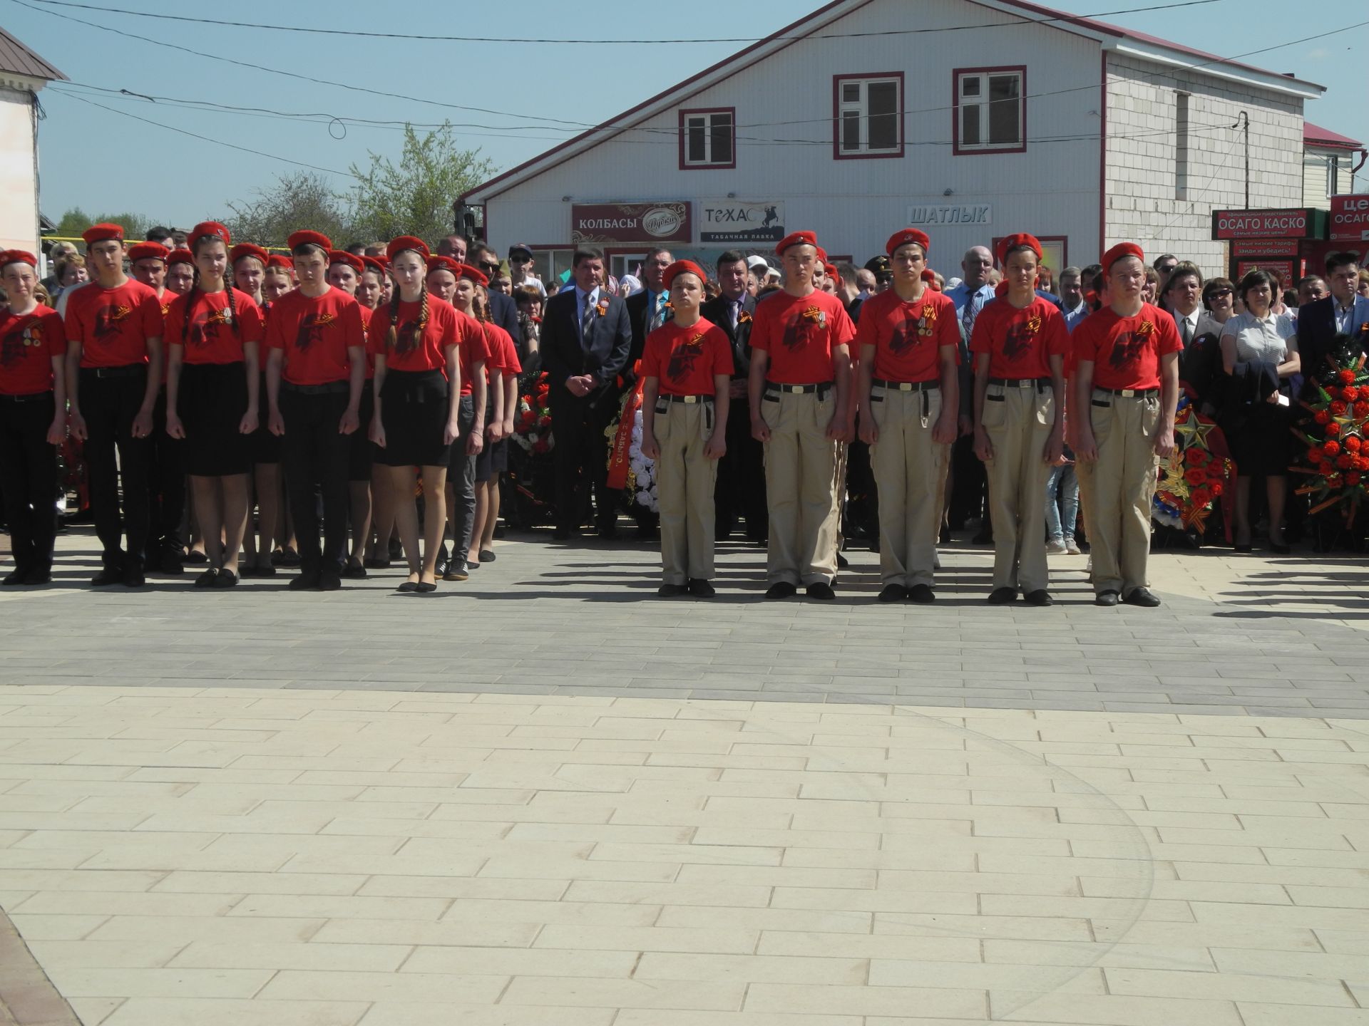
[[[1223,430],[1236,461],[1238,553],[1250,551],[1253,477],[1265,479],[1269,547],[1280,554],[1288,551],[1283,538],[1288,462],[1292,458],[1288,378],[1299,372],[1302,363],[1298,358],[1296,324],[1287,313],[1276,315],[1270,309],[1276,287],[1275,278],[1268,271],[1250,271],[1238,287],[1244,312],[1221,326],[1221,365],[1228,375],[1239,376],[1236,364],[1251,361],[1270,364],[1279,375],[1279,391],[1270,393],[1264,401],[1255,399],[1254,386],[1228,382],[1228,391],[1233,395],[1228,397]]]

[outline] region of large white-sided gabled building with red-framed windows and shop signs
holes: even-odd
[[[1247,179],[1251,208],[1302,205],[1303,101],[1322,92],[1021,0],[835,0],[459,209],[543,274],[568,265],[576,222],[622,274],[656,238],[716,257],[726,218],[769,222],[735,248],[810,228],[857,263],[920,224],[946,274],[1014,231],[1057,267],[1134,239],[1217,272],[1210,212],[1247,205]]]

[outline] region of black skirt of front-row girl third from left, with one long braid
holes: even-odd
[[[185,472],[223,477],[251,471],[252,436],[238,431],[246,412],[245,364],[183,364],[177,413],[185,427]]]

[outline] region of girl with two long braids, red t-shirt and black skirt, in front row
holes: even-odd
[[[424,285],[427,246],[401,235],[386,248],[394,294],[371,315],[375,415],[371,440],[385,465],[385,502],[400,529],[409,577],[400,591],[437,591],[437,557],[446,525],[446,466],[459,424],[457,313]],[[423,473],[423,550],[415,466]]]

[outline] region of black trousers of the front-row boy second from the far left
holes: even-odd
[[[148,387],[145,369],[125,376],[101,378],[81,371],[81,415],[86,423],[85,457],[90,475],[90,512],[94,532],[104,549],[105,566],[125,560],[142,564],[148,549],[148,457],[151,445],[133,436],[133,419]],[[115,462],[115,451],[119,458]],[[123,483],[123,531],[127,551],[119,547],[119,484]]]

